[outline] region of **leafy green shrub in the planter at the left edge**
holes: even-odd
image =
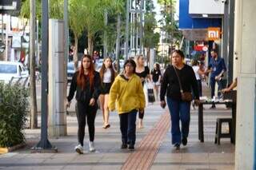
[[[0,147],[25,142],[23,129],[29,108],[28,89],[0,83]]]

